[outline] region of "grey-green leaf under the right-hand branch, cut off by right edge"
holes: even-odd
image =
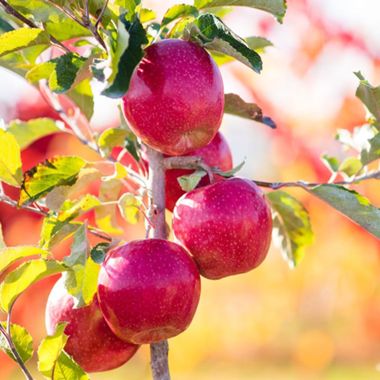
[[[380,209],[367,198],[339,185],[321,185],[308,191],[380,238]]]

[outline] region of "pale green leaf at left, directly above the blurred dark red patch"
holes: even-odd
[[[59,132],[60,128],[57,123],[60,122],[49,118],[29,121],[13,120],[9,123],[7,131],[16,138],[20,149],[25,149],[40,138]]]

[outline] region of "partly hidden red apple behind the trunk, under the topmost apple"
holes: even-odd
[[[187,154],[187,156],[198,156],[210,167],[218,167],[222,171],[233,168],[232,154],[230,147],[223,135],[218,132],[212,141],[203,148],[197,149]],[[177,200],[185,194],[178,183],[178,178],[188,175],[194,170],[171,169],[165,174],[166,208],[173,211]],[[208,176],[201,179],[197,187],[209,185]]]

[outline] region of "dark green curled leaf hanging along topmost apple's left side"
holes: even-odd
[[[111,50],[112,74],[102,92],[110,98],[120,98],[127,92],[132,73],[144,56],[143,46],[148,43],[146,31],[137,17],[130,22],[121,15],[117,31],[116,48]]]

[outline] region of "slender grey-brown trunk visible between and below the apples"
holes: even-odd
[[[164,156],[152,148],[146,148],[149,161],[149,214],[153,216],[153,237],[166,239]],[[150,345],[150,365],[154,380],[170,380],[168,352],[169,345],[166,340]]]

